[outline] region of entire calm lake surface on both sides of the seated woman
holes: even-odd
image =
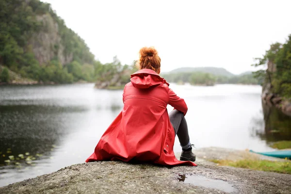
[[[269,142],[291,138],[291,118],[274,110],[285,132],[270,124],[267,129],[261,86],[170,87],[188,105],[197,148],[272,151]],[[94,84],[0,86],[0,186],[84,162],[122,106],[121,90],[97,90]],[[181,151],[178,138],[174,151]]]

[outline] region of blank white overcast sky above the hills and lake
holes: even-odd
[[[272,43],[291,33],[291,0],[43,0],[86,42],[96,59],[122,64],[154,46],[162,72],[215,66],[254,70]]]

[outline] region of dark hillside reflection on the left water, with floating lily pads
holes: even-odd
[[[0,105],[0,165],[33,164],[48,156],[70,129],[67,117],[84,111],[78,106]]]

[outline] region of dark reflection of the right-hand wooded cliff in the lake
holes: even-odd
[[[261,114],[252,119],[251,133],[267,143],[291,140],[291,117],[262,102]]]

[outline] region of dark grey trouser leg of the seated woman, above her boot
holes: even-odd
[[[169,117],[175,130],[175,136],[178,136],[182,149],[189,149],[191,147],[191,143],[184,114],[178,110],[173,110],[169,113]]]

